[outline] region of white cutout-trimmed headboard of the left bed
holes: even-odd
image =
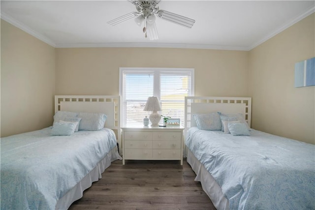
[[[117,142],[121,147],[120,101],[120,96],[56,95],[55,113],[60,110],[106,114],[105,127],[117,130]]]

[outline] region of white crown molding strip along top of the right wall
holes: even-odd
[[[258,45],[262,44],[263,42],[267,41],[268,39],[270,39],[271,37],[280,34],[281,32],[283,32],[285,29],[289,28],[290,26],[296,24],[297,22],[301,21],[302,19],[306,18],[307,16],[313,14],[315,12],[315,6],[312,6],[311,8],[309,8],[308,10],[306,10],[304,13],[296,16],[295,18],[289,20],[287,23],[285,23],[284,25],[282,25],[279,29],[277,29],[276,31],[270,33],[269,35],[265,36],[264,38],[262,38],[260,41],[257,41],[256,43],[254,43],[251,47],[248,48],[248,50],[252,50],[253,48],[257,47]]]

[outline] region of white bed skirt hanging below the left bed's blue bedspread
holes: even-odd
[[[98,179],[102,177],[102,173],[111,165],[111,162],[121,159],[122,157],[119,155],[116,146],[108,152],[105,158],[102,159],[88,175],[83,177],[77,185],[59,199],[56,210],[67,210],[74,201],[82,198],[84,190],[91,187],[93,182],[98,181]]]

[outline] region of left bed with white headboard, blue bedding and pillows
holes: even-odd
[[[55,96],[52,126],[0,139],[1,210],[68,209],[120,142],[120,96]]]

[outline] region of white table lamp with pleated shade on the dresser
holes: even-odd
[[[158,126],[159,120],[161,119],[161,115],[158,113],[158,111],[162,110],[158,102],[158,97],[149,97],[143,110],[152,111],[152,114],[149,116],[151,126]]]

